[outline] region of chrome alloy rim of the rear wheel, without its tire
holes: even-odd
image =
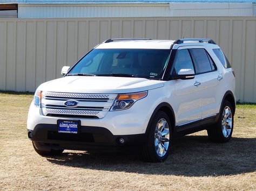
[[[222,121],[221,121],[223,136],[226,138],[230,136],[230,133],[232,131],[232,128],[233,128],[232,121],[233,121],[232,111],[230,107],[226,106],[223,110]]]

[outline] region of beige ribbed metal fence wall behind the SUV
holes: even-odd
[[[108,38],[212,38],[236,74],[237,99],[256,102],[256,17],[0,19],[0,90],[35,91]]]

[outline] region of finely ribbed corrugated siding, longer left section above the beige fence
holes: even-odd
[[[19,5],[18,18],[56,17],[160,17],[169,16],[169,5],[161,6],[26,6]]]

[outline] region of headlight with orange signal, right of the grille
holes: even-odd
[[[128,109],[132,104],[147,96],[147,91],[134,93],[134,94],[118,94],[110,111]]]

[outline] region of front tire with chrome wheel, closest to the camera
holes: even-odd
[[[164,126],[163,126],[164,124]],[[171,122],[164,111],[158,111],[149,126],[142,157],[146,162],[163,162],[170,153]]]

